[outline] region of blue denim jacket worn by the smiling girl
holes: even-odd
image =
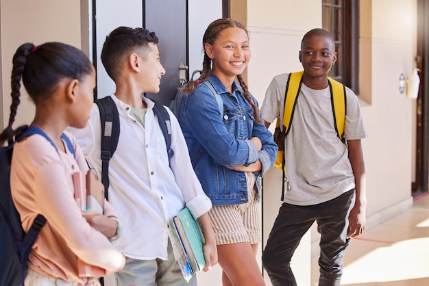
[[[259,159],[262,170],[254,174],[262,177],[274,164],[278,147],[265,125],[255,122],[252,105],[238,84],[233,83],[231,93],[215,75],[208,81],[223,100],[223,114],[210,89],[199,83],[183,97],[178,118],[195,173],[213,205],[247,203],[245,173],[226,167],[249,166]],[[252,137],[262,142],[260,151]],[[256,182],[259,188],[258,178]]]

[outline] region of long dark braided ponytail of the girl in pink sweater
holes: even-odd
[[[11,76],[11,87],[12,91],[10,92],[10,95],[12,96],[12,103],[10,104],[10,116],[9,116],[9,122],[8,127],[6,127],[3,132],[0,133],[0,146],[3,146],[3,144],[8,141],[9,143],[12,142],[12,138],[14,137],[15,133],[18,131],[21,131],[22,128],[17,129],[14,131],[12,129],[12,125],[15,121],[16,116],[16,110],[18,109],[19,103],[21,103],[19,97],[21,96],[21,92],[19,91],[21,89],[21,79],[23,77],[23,72],[25,68],[25,64],[27,63],[27,57],[30,54],[30,52],[34,53],[36,50],[34,44],[22,44],[14,54],[14,57],[12,59],[12,76]],[[21,133],[21,132],[19,132]]]

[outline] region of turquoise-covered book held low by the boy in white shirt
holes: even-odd
[[[173,236],[171,239],[173,251],[176,248],[175,258],[185,280],[188,281],[206,265],[203,252],[204,235],[187,207],[171,219],[169,229]]]

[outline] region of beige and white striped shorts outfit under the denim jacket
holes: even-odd
[[[255,175],[246,172],[248,203],[238,205],[214,205],[208,212],[216,234],[216,244],[250,242],[259,244],[260,216],[258,190]]]

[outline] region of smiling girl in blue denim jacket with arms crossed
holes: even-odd
[[[230,18],[208,25],[199,79],[183,91],[179,121],[204,192],[212,200],[223,285],[265,285],[255,256],[260,244],[259,178],[278,151],[242,73],[250,60],[247,29]],[[238,83],[236,83],[236,79]],[[204,81],[223,101],[219,104]]]

